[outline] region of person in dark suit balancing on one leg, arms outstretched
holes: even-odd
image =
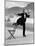
[[[21,16],[21,18],[19,18],[17,20],[17,25],[23,26],[23,37],[26,37],[26,35],[25,35],[25,22],[26,22],[26,18],[29,17],[30,15],[28,15],[24,11],[23,11],[23,13],[18,13],[17,15]]]

